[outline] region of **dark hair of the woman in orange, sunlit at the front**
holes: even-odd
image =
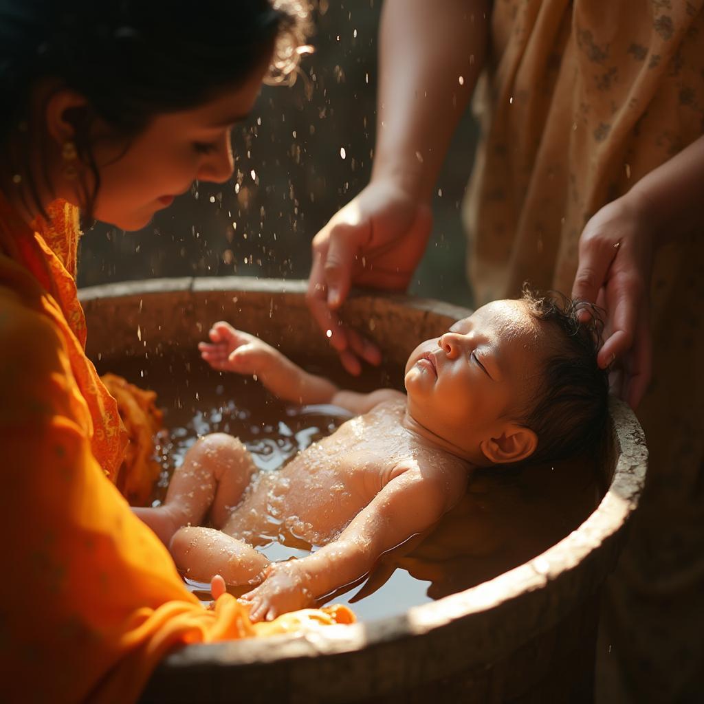
[[[95,118],[129,139],[159,113],[236,88],[269,57],[270,82],[281,82],[294,75],[307,18],[306,4],[296,0],[0,0],[4,168],[41,210],[37,179],[53,189],[46,169],[33,173],[26,161],[42,134],[30,99],[37,80],[58,80],[89,102],[88,111],[67,117],[78,158],[92,172],[90,192],[81,184],[82,206],[92,216],[100,184],[89,139]]]

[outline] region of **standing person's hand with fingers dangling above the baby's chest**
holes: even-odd
[[[432,215],[391,180],[372,181],[313,238],[308,307],[337,350],[345,369],[361,371],[360,358],[379,364],[381,354],[342,325],[337,310],[352,284],[404,291],[423,256]]]

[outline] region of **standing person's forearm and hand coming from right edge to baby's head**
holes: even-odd
[[[644,176],[589,220],[579,239],[573,298],[605,308],[601,367],[619,360],[621,395],[636,408],[650,381],[648,317],[653,256],[660,244],[704,223],[704,137]]]

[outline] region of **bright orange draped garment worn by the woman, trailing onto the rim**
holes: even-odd
[[[311,618],[253,626],[230,594],[203,609],[108,479],[127,435],[84,354],[75,210],[49,214],[32,232],[0,196],[1,697],[130,702],[175,646]],[[353,618],[334,613],[316,623]]]

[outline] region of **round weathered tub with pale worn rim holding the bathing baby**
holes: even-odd
[[[210,322],[232,320],[298,361],[334,358],[308,315],[303,282],[241,277],[161,279],[84,289],[88,353],[125,357],[194,347]],[[417,341],[466,310],[405,296],[355,296],[346,319],[402,365]],[[139,330],[139,333],[138,333]],[[590,701],[601,585],[646,474],[641,428],[611,402],[599,470],[608,487],[577,530],[536,558],[401,616],[315,636],[188,646],[166,658],[144,701]]]

